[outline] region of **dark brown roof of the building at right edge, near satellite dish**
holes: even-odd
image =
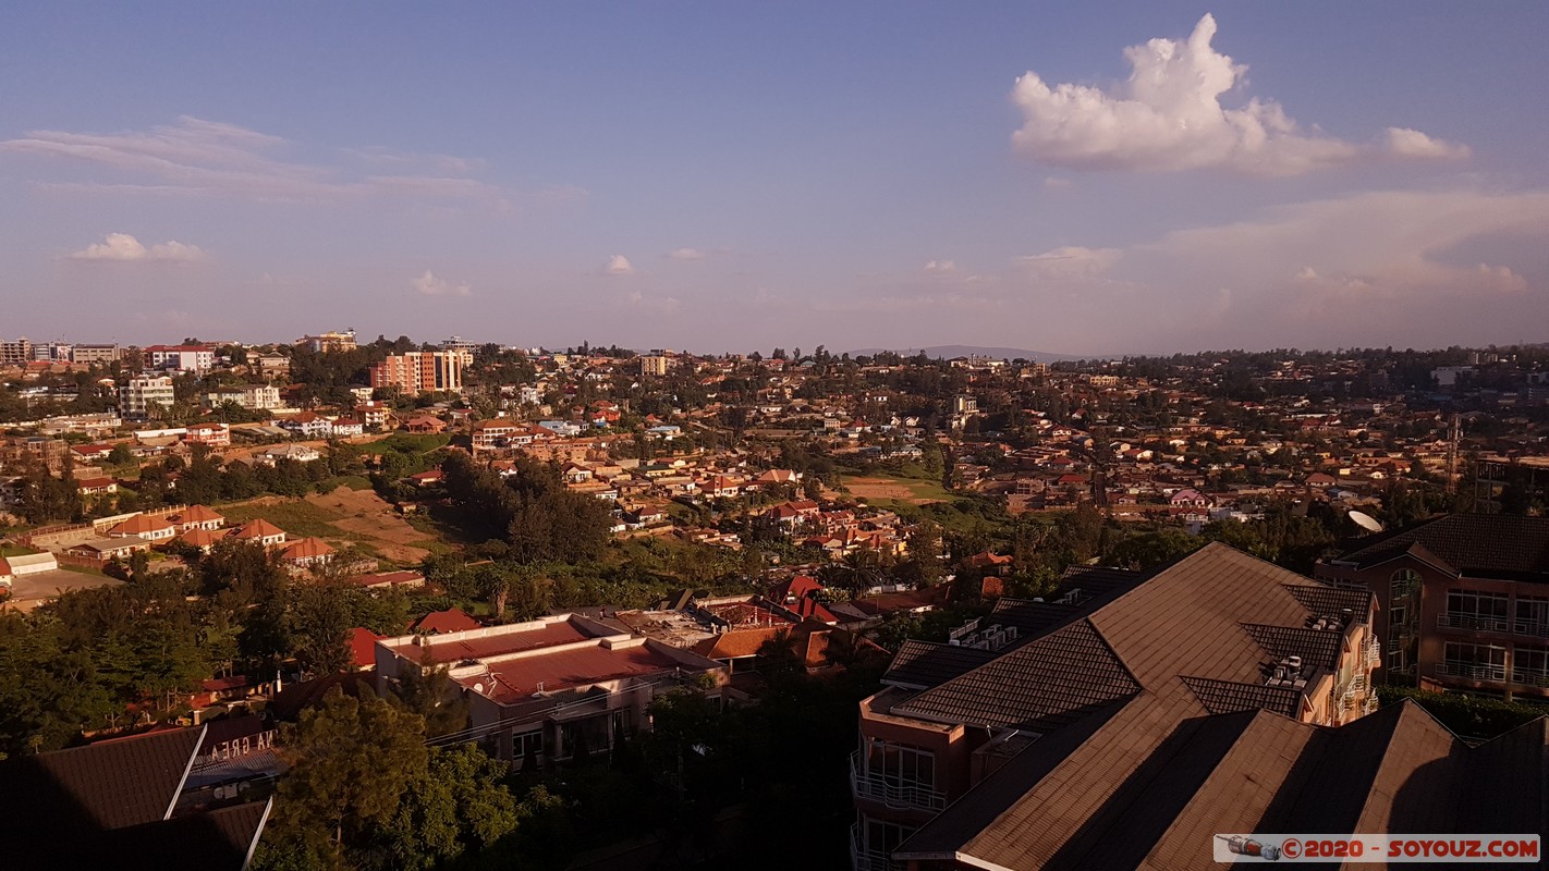
[[[1408,529],[1362,538],[1338,557],[1366,568],[1420,545],[1445,566],[1472,577],[1549,580],[1549,518],[1448,514]]]

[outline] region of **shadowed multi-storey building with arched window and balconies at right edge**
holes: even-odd
[[[1549,518],[1444,515],[1363,538],[1315,574],[1376,596],[1388,681],[1549,698]]]

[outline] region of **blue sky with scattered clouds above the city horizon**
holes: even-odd
[[[8,3],[0,334],[1549,340],[1546,25],[1541,3]]]

